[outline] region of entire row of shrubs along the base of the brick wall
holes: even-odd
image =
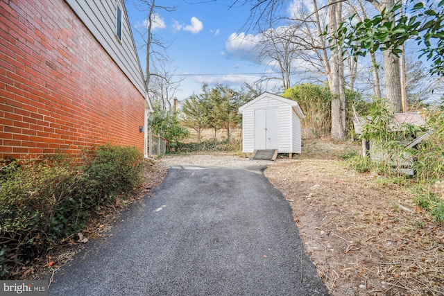
[[[0,279],[85,227],[99,207],[135,189],[143,155],[134,147],[99,146],[69,155],[0,159]]]

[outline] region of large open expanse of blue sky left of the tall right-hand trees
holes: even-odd
[[[158,6],[177,6],[173,12],[159,12],[154,33],[162,40],[171,42],[167,49],[172,60],[171,67],[176,74],[186,75],[181,82],[180,91],[176,92],[179,100],[200,92],[203,82],[210,85],[221,83],[237,88],[244,82],[253,83],[263,73],[271,71],[264,65],[258,65],[248,49],[250,42],[240,42],[245,34],[241,28],[250,15],[249,6],[228,8],[230,0],[217,3],[196,3],[205,1],[191,0],[193,3],[176,0],[157,0]],[[142,28],[147,12],[140,12],[131,3],[126,3],[131,26]],[[218,4],[219,3],[219,4]],[[248,32],[253,33],[253,32]],[[142,38],[134,32],[136,46],[142,44]],[[251,39],[254,38],[251,35]],[[145,53],[139,51],[142,69],[145,69]],[[268,87],[273,87],[271,83]]]

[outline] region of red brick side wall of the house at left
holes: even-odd
[[[0,158],[143,152],[144,97],[65,1],[0,0],[0,40]]]

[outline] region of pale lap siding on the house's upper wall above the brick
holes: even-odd
[[[123,0],[66,0],[78,18],[108,52],[139,92],[146,97],[144,74]],[[116,36],[117,6],[121,11],[121,40]]]

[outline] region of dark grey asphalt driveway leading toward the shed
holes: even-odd
[[[291,208],[259,168],[175,166],[49,295],[327,295]]]

